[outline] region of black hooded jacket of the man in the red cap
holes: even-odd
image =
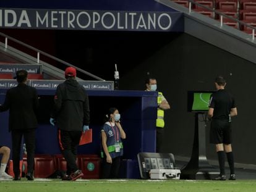
[[[69,79],[58,85],[54,96],[52,117],[61,130],[82,131],[90,123],[88,95],[77,80]]]

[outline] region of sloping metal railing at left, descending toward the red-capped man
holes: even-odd
[[[61,59],[58,59],[57,57],[51,56],[50,54],[48,54],[48,53],[46,53],[44,51],[41,51],[41,50],[36,49],[36,48],[33,48],[32,46],[30,46],[30,45],[28,45],[26,43],[23,43],[22,41],[16,40],[15,38],[12,38],[11,36],[8,36],[8,35],[6,35],[4,33],[0,32],[0,36],[4,37],[4,48],[6,48],[6,49],[8,49],[8,41],[11,40],[11,41],[13,41],[13,42],[15,42],[17,44],[20,44],[20,45],[24,46],[25,48],[28,48],[28,49],[30,49],[32,51],[35,51],[36,52],[36,62],[38,64],[41,64],[40,63],[40,56],[41,55],[42,56],[46,56],[46,57],[48,57],[50,59],[53,59],[54,61],[57,61],[57,62],[59,62],[61,64],[66,65],[66,66],[74,67],[75,69],[77,69],[77,71],[79,71],[79,72],[81,72],[81,73],[83,73],[85,75],[88,75],[89,77],[95,78],[96,80],[105,81],[103,78],[100,78],[100,77],[98,77],[96,75],[93,75],[92,73],[89,73],[89,72],[87,72],[87,71],[85,71],[83,69],[80,69],[79,67],[76,67],[75,65],[69,64],[66,61],[62,61]],[[22,50],[20,50],[20,51],[22,51]]]

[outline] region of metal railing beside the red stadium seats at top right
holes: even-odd
[[[189,1],[189,13],[191,13],[192,4],[195,4],[195,5],[199,6],[199,7],[203,7],[203,9],[210,10],[211,12],[220,15],[220,23],[221,23],[220,25],[221,25],[221,27],[223,26],[223,17],[226,17],[226,18],[228,18],[228,19],[234,20],[234,22],[239,23],[240,26],[241,26],[241,25],[245,25],[245,26],[247,26],[247,27],[249,27],[249,28],[252,28],[252,40],[254,40],[254,38],[255,38],[254,35],[255,35],[255,30],[256,30],[256,28],[253,27],[252,25],[249,25],[248,23],[242,22],[242,21],[239,20],[239,19],[235,19],[234,17],[231,17],[231,16],[229,16],[229,15],[223,14],[223,12],[220,12],[220,11],[218,11],[218,10],[211,9],[210,7],[204,6],[204,5],[202,5],[202,4],[198,3],[198,2],[195,2],[195,1],[193,1],[193,0],[188,0],[188,1]],[[196,12],[196,11],[195,11],[195,12]],[[249,35],[250,35],[250,34],[249,34]]]

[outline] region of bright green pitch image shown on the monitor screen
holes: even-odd
[[[194,93],[192,111],[208,111],[211,93]]]

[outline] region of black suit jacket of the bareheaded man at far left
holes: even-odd
[[[7,90],[4,104],[0,111],[9,111],[9,131],[36,128],[36,111],[38,109],[36,89],[25,83],[19,83]]]

